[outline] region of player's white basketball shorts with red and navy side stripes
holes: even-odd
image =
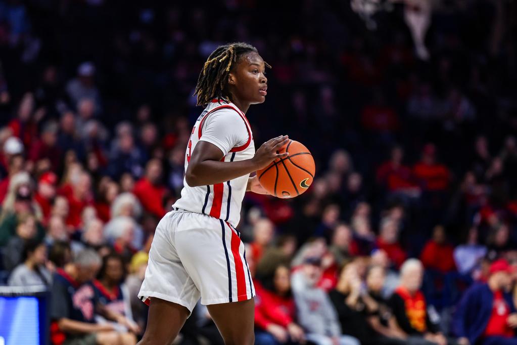
[[[230,223],[208,215],[171,211],[158,223],[138,294],[165,299],[190,311],[255,296],[244,243]]]

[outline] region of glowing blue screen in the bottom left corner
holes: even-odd
[[[36,297],[0,296],[0,345],[39,345]]]

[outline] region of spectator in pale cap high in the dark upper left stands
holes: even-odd
[[[95,66],[91,62],[83,62],[77,68],[77,77],[70,80],[66,85],[68,97],[74,104],[83,98],[90,98],[95,101],[96,109],[100,109],[100,94],[95,86]]]

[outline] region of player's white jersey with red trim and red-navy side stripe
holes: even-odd
[[[233,103],[213,100],[197,118],[187,146],[185,171],[199,141],[216,145],[224,154],[221,161],[240,161],[255,155],[251,126],[246,115]],[[215,185],[190,187],[184,178],[181,197],[174,208],[202,213],[237,226],[249,174]]]

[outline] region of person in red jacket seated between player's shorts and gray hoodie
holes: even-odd
[[[261,284],[262,282],[262,284]],[[254,281],[255,345],[297,344],[305,341],[303,329],[296,324],[296,307],[291,295],[289,268],[279,265],[273,274]]]

